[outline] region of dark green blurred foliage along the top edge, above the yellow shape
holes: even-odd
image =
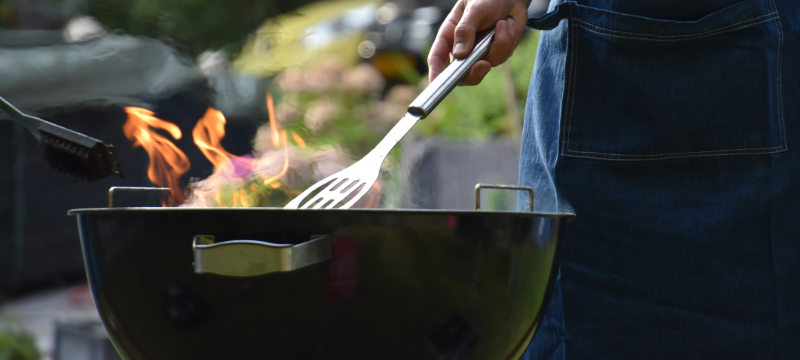
[[[312,0],[87,0],[89,15],[109,29],[175,40],[193,54],[235,53],[267,18]]]

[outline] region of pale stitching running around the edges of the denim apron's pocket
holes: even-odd
[[[736,24],[728,25],[726,27],[715,29],[715,30],[712,30],[712,31],[709,31],[709,32],[696,34],[696,35],[693,35],[692,37],[685,37],[685,38],[677,39],[677,40],[658,40],[658,39],[647,39],[647,38],[626,37],[626,36],[618,36],[618,35],[611,35],[611,34],[603,34],[601,32],[589,29],[589,28],[587,28],[585,26],[582,26],[582,25],[579,25],[579,24],[572,24],[572,23],[570,23],[570,25],[571,25],[570,27],[581,27],[581,28],[583,28],[583,29],[585,29],[587,31],[593,32],[593,33],[597,33],[597,34],[600,34],[600,35],[603,35],[603,36],[616,37],[616,38],[640,39],[640,40],[645,40],[645,41],[680,41],[680,40],[697,39],[697,38],[703,38],[703,37],[708,37],[708,36],[717,35],[717,34],[723,34],[723,33],[726,33],[726,32],[731,32],[731,31],[747,28],[747,27],[750,27],[750,26],[763,24],[763,23],[766,23],[766,22],[769,22],[769,21],[775,21],[775,24],[778,27],[778,59],[777,59],[777,63],[778,63],[778,85],[777,85],[778,86],[778,94],[777,94],[777,96],[778,96],[778,122],[779,122],[779,133],[780,133],[779,139],[780,139],[780,142],[782,143],[781,145],[773,146],[773,147],[770,147],[770,148],[745,148],[745,149],[708,150],[708,151],[699,151],[699,152],[682,152],[682,153],[652,154],[652,155],[614,154],[614,153],[600,153],[600,152],[591,152],[591,151],[572,150],[572,149],[569,148],[569,134],[570,134],[570,130],[572,128],[572,126],[571,126],[572,125],[572,108],[573,108],[573,105],[575,103],[575,101],[574,101],[575,99],[574,99],[574,96],[572,95],[572,93],[574,91],[574,88],[575,88],[574,83],[576,81],[576,79],[575,79],[576,78],[576,76],[575,76],[575,74],[576,74],[576,69],[575,69],[576,66],[574,65],[575,57],[573,57],[571,59],[571,61],[570,61],[570,63],[571,63],[570,64],[570,68],[571,68],[571,73],[573,74],[573,76],[572,76],[572,82],[571,82],[572,84],[571,84],[570,92],[569,92],[569,94],[570,94],[570,106],[569,106],[569,112],[567,114],[566,142],[562,145],[562,153],[563,153],[563,155],[570,156],[570,153],[597,154],[597,155],[603,155],[605,157],[586,156],[586,155],[571,155],[571,156],[572,157],[589,158],[589,159],[600,159],[600,160],[645,161],[645,160],[665,160],[665,159],[677,159],[677,158],[688,158],[688,157],[703,157],[703,156],[773,154],[773,153],[777,153],[777,152],[782,152],[782,151],[788,150],[788,146],[786,144],[786,139],[785,139],[785,135],[784,135],[785,127],[784,127],[784,119],[783,119],[784,118],[784,116],[783,116],[783,94],[782,94],[783,77],[782,77],[782,68],[781,68],[782,48],[783,48],[783,31],[781,30],[780,15],[778,15],[778,10],[777,10],[777,7],[775,7],[774,0],[769,0],[769,1],[770,1],[770,7],[772,8],[772,12],[769,13],[769,14],[762,15],[762,16],[759,16],[759,17],[756,17],[756,18],[752,18],[752,19],[748,19],[748,20],[744,20],[744,21],[740,21],[740,22],[738,22]],[[586,23],[586,22],[584,22],[584,21],[582,21],[580,19],[577,19],[577,17],[575,16],[575,13],[574,13],[574,9],[575,9],[574,6],[570,6],[570,15],[571,15],[571,19],[570,20],[577,20],[578,22],[581,22],[581,23],[584,23],[584,24],[587,24],[587,25],[590,25],[590,26],[593,26],[593,27],[596,27],[598,29],[601,29],[601,30],[604,30],[604,31],[608,31],[608,32],[625,33],[625,32],[620,32],[620,31],[616,31],[616,30],[605,29],[605,28],[602,28],[602,27],[599,27],[599,26],[596,26],[596,25],[593,25],[593,24]],[[741,26],[736,27],[736,28],[728,29],[728,30],[725,30],[725,31],[720,31],[720,30],[723,30],[723,29],[730,28],[732,26],[743,24],[743,23],[746,23],[746,22],[749,22],[749,21],[755,21],[755,20],[758,20],[758,19],[761,19],[761,18],[764,18],[764,17],[769,17],[769,18],[765,19],[765,20],[762,20],[762,21],[759,21],[759,22],[756,22],[756,23],[745,24],[745,25],[741,25]],[[627,33],[627,34],[639,35],[639,34],[636,34],[636,33]],[[575,38],[577,38],[577,34],[573,34],[573,35],[574,35]],[[641,34],[641,35],[653,36],[653,37],[666,37],[666,36],[649,35],[649,34]],[[679,35],[679,36],[683,36],[683,35]],[[574,40],[574,39],[572,39],[572,40]],[[577,56],[577,41],[573,41],[573,42],[575,43],[575,53],[574,53],[574,55]],[[616,156],[616,157],[619,157],[619,158],[617,158],[617,159],[610,158],[612,156]],[[633,159],[626,159],[626,158],[633,158]]]

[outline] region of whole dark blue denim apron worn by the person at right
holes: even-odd
[[[800,1],[559,1],[528,25],[520,182],[577,217],[523,359],[800,359]]]

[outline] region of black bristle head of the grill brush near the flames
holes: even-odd
[[[62,173],[87,181],[96,181],[110,174],[122,176],[113,147],[102,142],[77,144],[54,134],[41,131],[39,143],[47,163]],[[87,147],[87,145],[93,145]]]

